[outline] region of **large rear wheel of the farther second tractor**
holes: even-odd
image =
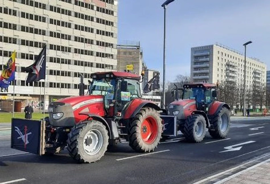
[[[222,107],[211,121],[211,124],[213,128],[211,127],[208,131],[213,138],[226,138],[231,124],[229,109]]]

